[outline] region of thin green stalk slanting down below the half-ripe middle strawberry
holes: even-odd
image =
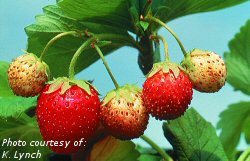
[[[154,148],[165,161],[174,161],[162,148],[160,148],[155,142],[153,142],[150,138],[145,135],[141,136],[145,142],[147,142],[152,148]]]

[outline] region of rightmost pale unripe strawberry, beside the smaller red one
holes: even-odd
[[[223,59],[214,52],[194,49],[182,63],[194,89],[217,92],[226,82],[227,69]]]

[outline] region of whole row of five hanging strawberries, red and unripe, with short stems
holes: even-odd
[[[157,37],[153,36],[152,41],[155,39]],[[116,85],[102,102],[89,82],[74,79],[74,63],[86,46],[96,49]],[[45,141],[84,139],[84,146],[87,146],[100,125],[110,135],[127,140],[143,135],[150,114],[159,120],[183,115],[191,103],[193,88],[211,93],[225,84],[224,61],[214,52],[195,49],[185,55],[181,65],[170,62],[167,50],[165,54],[165,61],[154,64],[147,75],[143,89],[131,84],[118,85],[94,38],[75,53],[69,78],[47,82],[48,66],[41,58],[26,53],[10,64],[8,79],[16,95],[39,95],[36,115]],[[74,145],[51,147],[57,153],[74,153],[80,148]]]

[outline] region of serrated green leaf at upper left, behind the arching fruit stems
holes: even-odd
[[[85,31],[105,37],[104,40],[112,44],[103,46],[106,55],[121,46],[134,46],[134,39],[126,30],[93,22],[80,22],[63,14],[58,6],[47,6],[44,14],[36,17],[36,23],[25,28],[28,35],[28,51],[40,55],[47,42],[54,36],[66,31]],[[66,36],[58,40],[44,56],[44,61],[49,65],[52,77],[67,76],[68,67],[73,54],[86,41],[84,35]],[[89,47],[78,58],[75,71],[80,72],[99,59],[94,49]]]

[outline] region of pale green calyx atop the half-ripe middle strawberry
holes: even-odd
[[[132,103],[133,100],[133,95],[132,94],[140,94],[141,93],[141,88],[137,87],[135,85],[131,84],[126,84],[122,87],[119,87],[118,89],[110,91],[104,98],[103,100],[103,106],[106,105],[110,100],[113,98],[120,99],[123,98],[125,99],[128,103]]]

